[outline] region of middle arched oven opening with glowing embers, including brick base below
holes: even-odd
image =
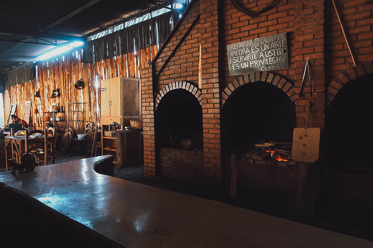
[[[239,188],[273,190],[294,196],[295,161],[291,159],[295,104],[277,86],[244,84],[226,100],[221,115],[222,179],[230,183],[236,156]]]

